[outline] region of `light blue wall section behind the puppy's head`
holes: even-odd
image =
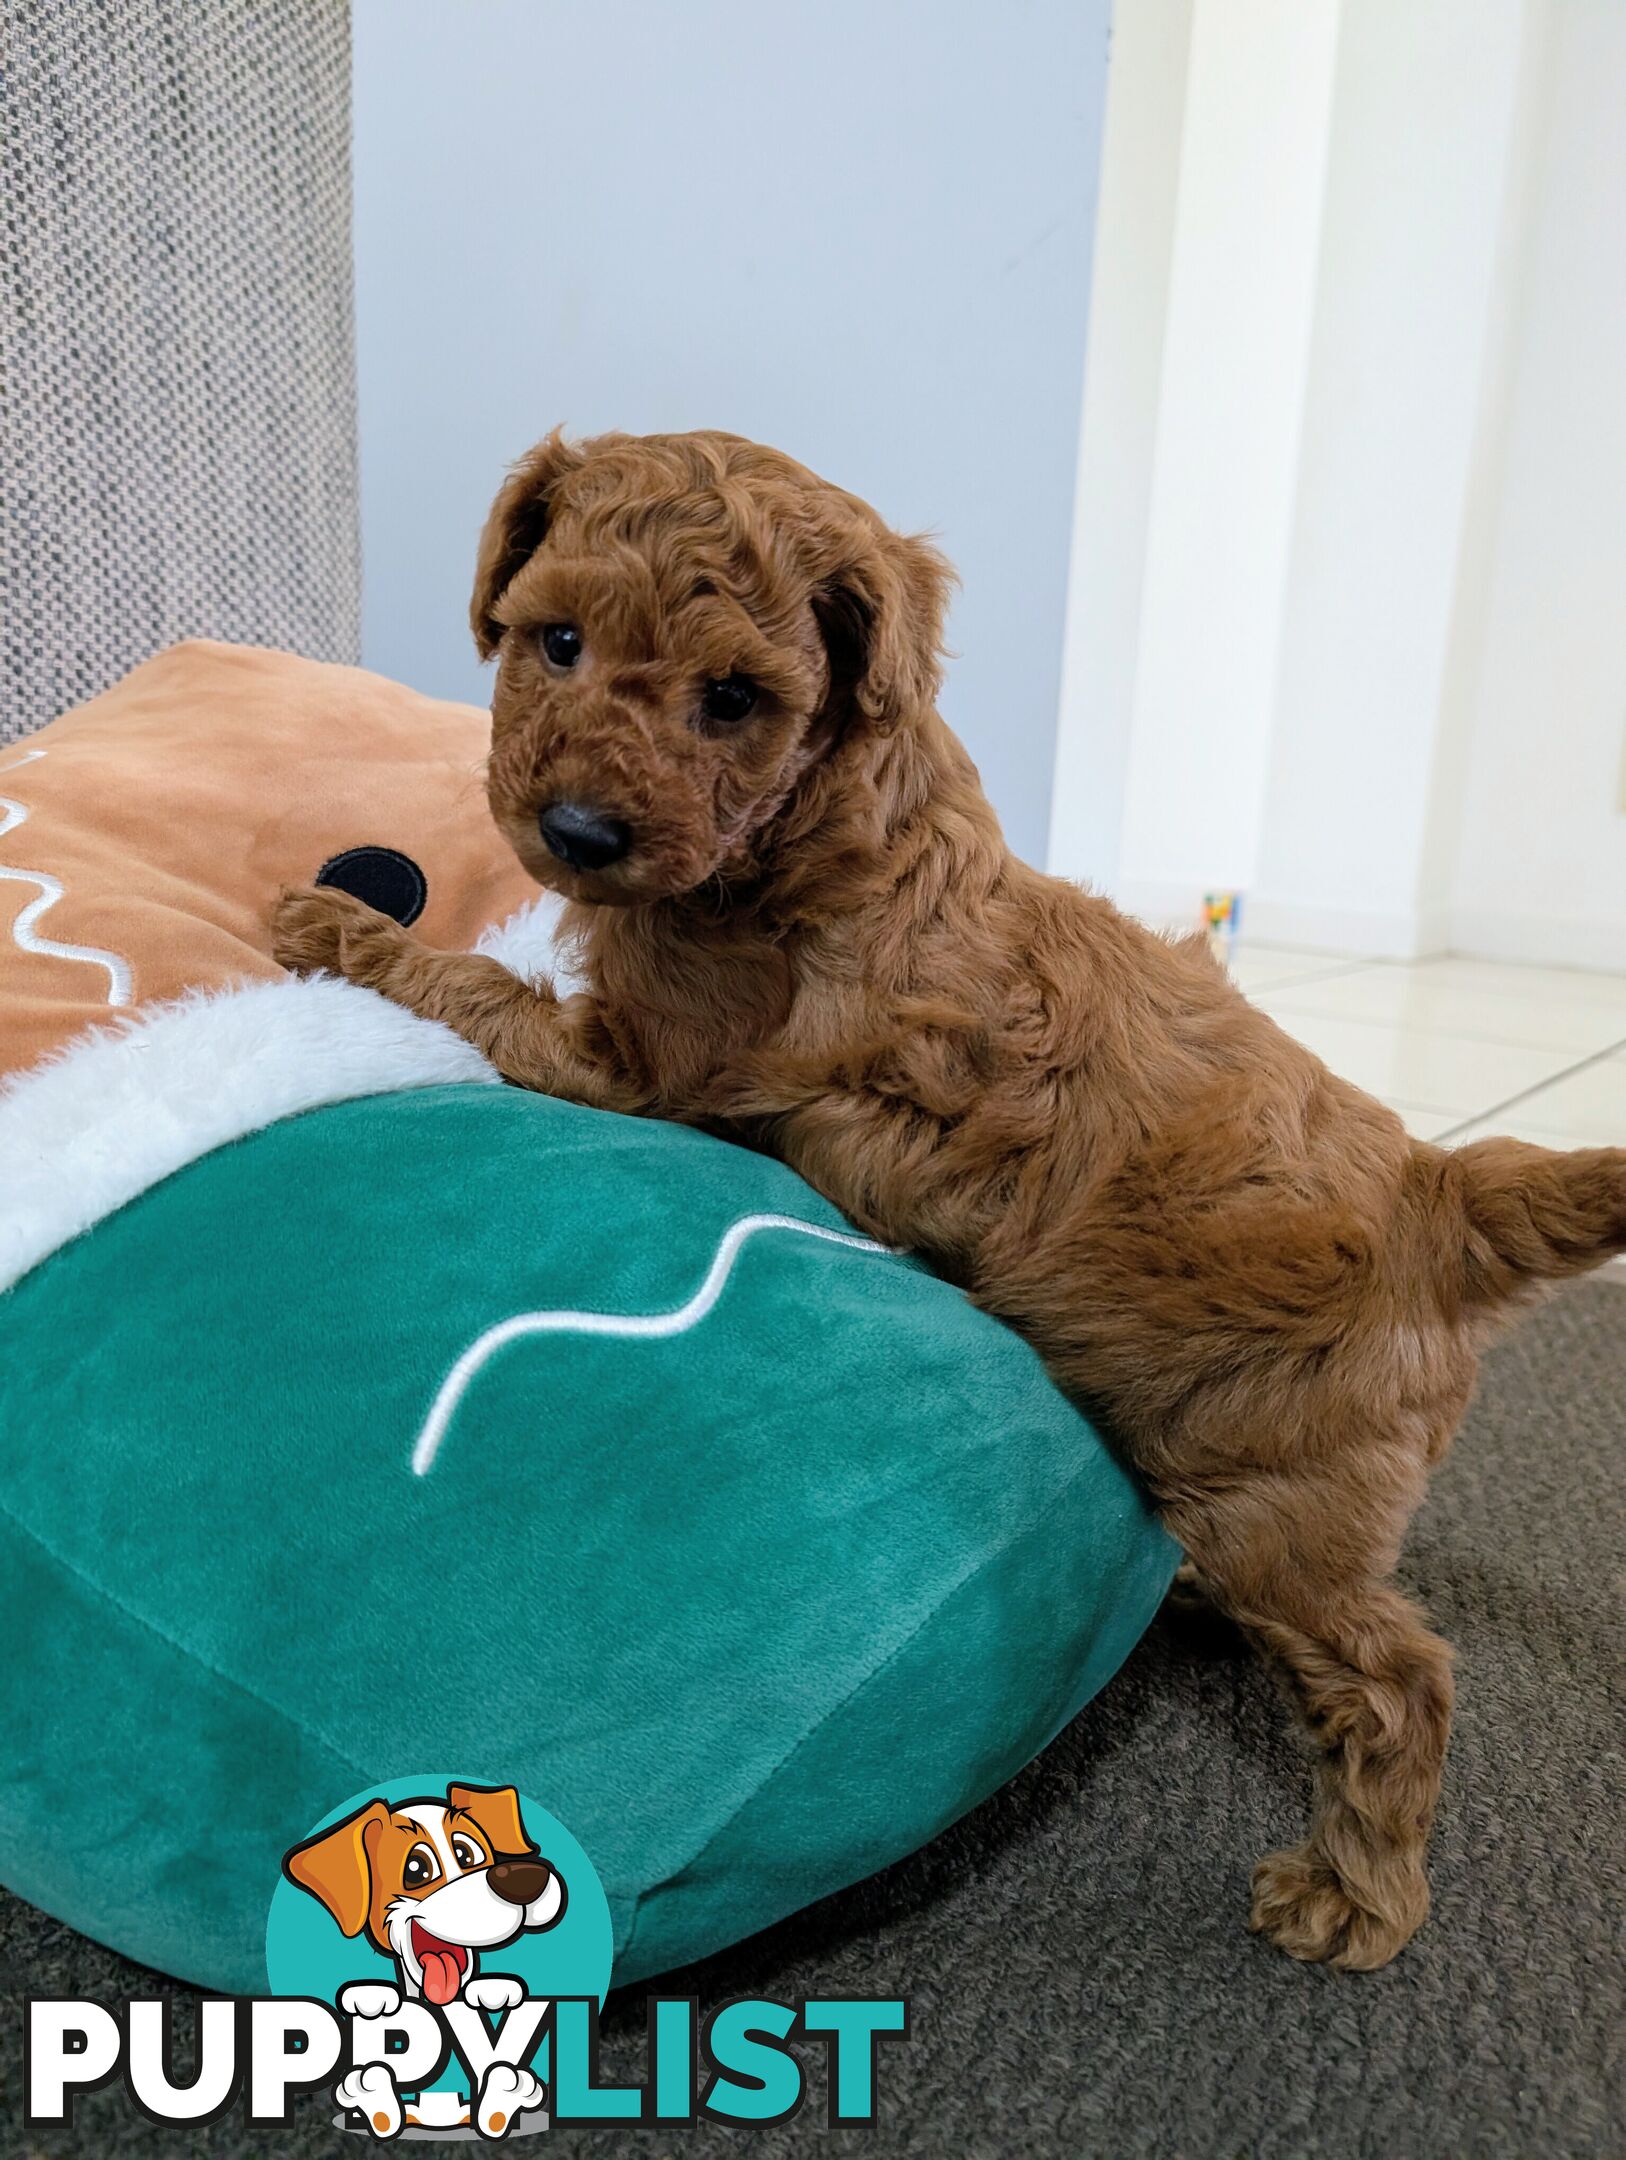
[[[1043,860],[1108,0],[354,0],[367,665],[486,702],[503,467],[732,428],[931,529]]]

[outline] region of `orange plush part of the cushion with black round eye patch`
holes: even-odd
[[[536,896],[486,810],[488,745],[475,706],[192,642],[0,750],[0,1074],[121,1009],[279,976],[272,899],[352,849],[391,853],[341,881],[471,946]]]

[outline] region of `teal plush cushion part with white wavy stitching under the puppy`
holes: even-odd
[[[205,1156],[24,1277],[0,1879],[255,1989],[283,1849],[453,1767],[570,1825],[631,1981],[1011,1778],[1175,1547],[1015,1335],[853,1244],[719,1259],[751,1214],[846,1229],[719,1140],[425,1089]],[[680,1318],[499,1341],[423,1469],[458,1359],[538,1309]]]

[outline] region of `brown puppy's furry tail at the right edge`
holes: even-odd
[[[1479,1311],[1626,1253],[1626,1149],[1471,1140],[1434,1156],[1449,1300]]]

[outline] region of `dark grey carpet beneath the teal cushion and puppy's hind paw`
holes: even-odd
[[[1211,1620],[1166,1614],[1004,1793],[903,1866],[685,1974],[672,1992],[892,1994],[881,2125],[823,2128],[823,2074],[777,2130],[555,2132],[536,2151],[739,2145],[870,2156],[1620,2156],[1622,1441],[1626,1285],[1594,1281],[1488,1361],[1412,1534],[1408,1581],[1460,1657],[1434,1918],[1371,1976],[1244,1933],[1248,1864],[1293,1838],[1304,1760],[1272,1685]],[[99,1996],[153,1981],[37,1912],[0,1909],[0,1981]],[[186,2138],[117,2093],[6,2154],[348,2154],[311,2106],[287,2134]],[[643,2004],[613,1998],[605,2071],[637,2076]],[[274,2138],[274,2143],[272,2143]]]

